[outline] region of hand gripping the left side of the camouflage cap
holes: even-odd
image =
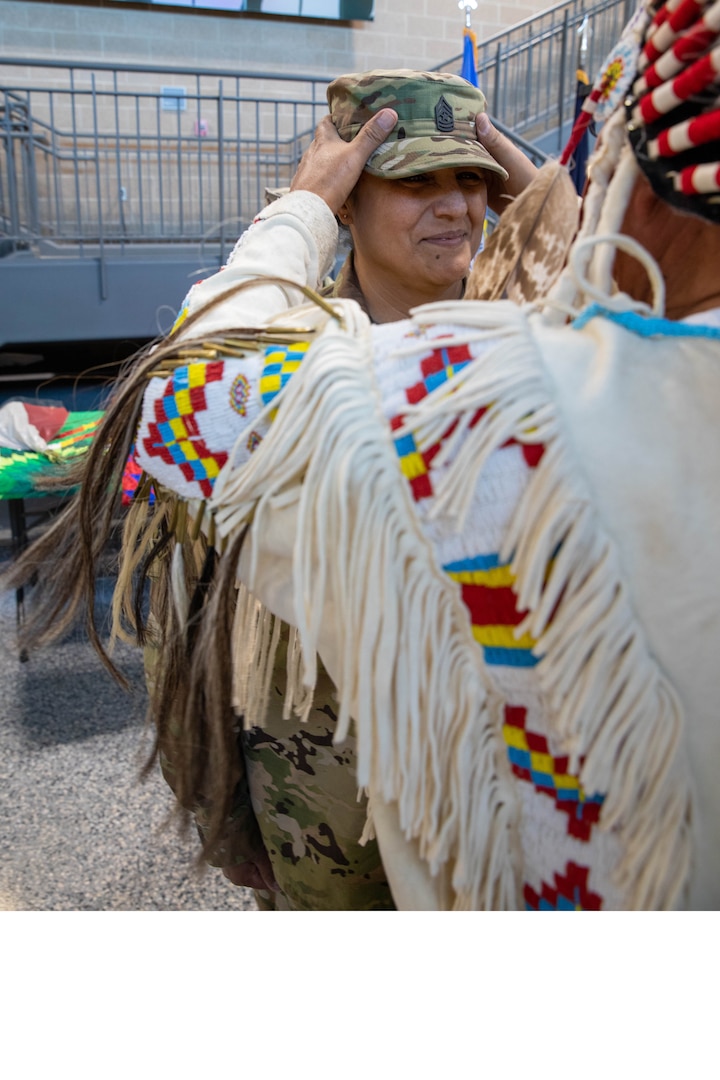
[[[337,214],[357,184],[367,159],[385,141],[396,123],[394,109],[380,109],[352,143],[345,143],[329,116],[324,117],[293,177],[290,191],[312,191]]]

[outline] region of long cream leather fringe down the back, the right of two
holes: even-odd
[[[571,770],[580,770],[586,791],[606,794],[599,825],[621,841],[619,888],[631,908],[670,908],[692,851],[682,710],[650,653],[614,543],[563,444],[526,315],[511,305],[431,305],[422,318],[430,314],[464,323],[458,342],[501,327],[503,337],[453,379],[450,393],[410,407],[396,435],[411,430],[420,447],[430,445],[460,417],[441,451],[450,464],[434,507],[454,515],[459,528],[490,454],[510,437],[544,444],[501,550],[503,561],[512,558],[518,609],[528,610],[516,636],[536,640],[541,688]],[[471,429],[480,408],[487,411]],[[460,440],[463,454],[456,456]]]

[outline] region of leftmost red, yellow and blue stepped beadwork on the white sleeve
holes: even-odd
[[[222,378],[222,361],[195,362],[178,367],[167,380],[162,397],[154,402],[154,421],[148,424],[142,446],[150,457],[175,464],[187,481],[199,484],[203,495],[228,460],[225,450],[212,451],[200,433],[195,414],[207,408],[205,386]]]

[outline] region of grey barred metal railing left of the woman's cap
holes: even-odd
[[[327,109],[316,76],[275,80],[272,94],[254,75],[263,92],[246,95],[236,72],[135,65],[153,82],[140,90],[121,81],[130,68],[36,64],[46,66],[63,80],[0,89],[0,232],[18,245],[225,247],[267,187],[289,184]],[[193,80],[180,99],[163,87],[178,73]]]

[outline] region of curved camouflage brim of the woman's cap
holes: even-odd
[[[416,136],[383,143],[370,154],[365,172],[392,180],[463,165],[483,168],[507,179],[507,171],[484,146],[474,139],[453,135]]]

